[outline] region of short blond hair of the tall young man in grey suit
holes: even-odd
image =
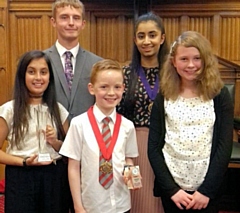
[[[70,6],[74,8],[81,8],[82,9],[82,18],[85,19],[85,7],[80,0],[56,0],[52,4],[52,17],[56,18],[56,11],[60,7]]]

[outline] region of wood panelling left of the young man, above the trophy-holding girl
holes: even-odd
[[[51,26],[49,13],[17,11],[11,12],[9,17],[10,68],[13,85],[19,57],[29,50],[50,47],[56,40],[56,32]]]

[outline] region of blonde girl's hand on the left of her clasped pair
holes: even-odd
[[[192,201],[193,195],[190,195],[184,190],[180,189],[171,197],[171,199],[179,209],[183,210],[184,207],[187,207]]]

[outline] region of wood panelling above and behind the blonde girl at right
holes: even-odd
[[[170,43],[181,32],[196,30],[210,40],[216,55],[240,64],[239,1],[221,1],[218,4],[166,4],[164,7],[155,3],[152,9],[163,17],[164,21],[173,18],[178,20],[175,23],[164,22]],[[175,30],[175,25],[179,25],[178,31]]]

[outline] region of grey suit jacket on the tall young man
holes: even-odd
[[[94,96],[88,92],[90,73],[94,63],[102,58],[81,47],[76,58],[72,91],[68,89],[60,55],[55,45],[44,51],[50,58],[57,92],[57,101],[69,112],[69,120],[85,111],[94,104]]]

